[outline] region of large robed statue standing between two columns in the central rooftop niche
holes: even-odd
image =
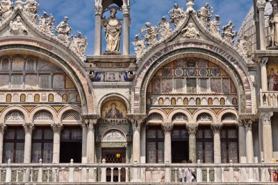
[[[106,39],[106,51],[105,55],[120,55],[120,41],[122,33],[122,24],[117,19],[117,7],[109,8],[111,17],[104,18],[104,32]]]

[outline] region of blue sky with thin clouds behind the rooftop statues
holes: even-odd
[[[236,30],[239,30],[243,19],[253,5],[252,0],[195,0],[195,10],[199,10],[206,2],[213,6],[215,14],[220,15],[222,26],[231,20],[236,24]],[[63,20],[63,17],[69,17],[69,24],[73,29],[72,34],[76,35],[76,32],[80,30],[83,35],[86,35],[88,37],[87,55],[94,54],[95,0],[40,0],[39,3],[40,15],[42,11],[52,13],[56,19],[56,26]],[[167,15],[174,3],[186,9],[186,0],[131,0],[131,42],[139,33],[140,28],[145,26],[145,22],[149,21],[152,25],[158,25],[158,21]],[[133,53],[131,45],[131,54]]]

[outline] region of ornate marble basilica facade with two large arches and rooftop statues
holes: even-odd
[[[178,183],[185,160],[215,164],[197,182],[275,181],[252,165],[278,159],[277,0],[254,0],[238,32],[208,3],[180,6],[131,38],[131,2],[96,0],[85,55],[70,18],[0,1],[0,181]]]

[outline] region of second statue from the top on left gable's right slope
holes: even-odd
[[[43,12],[42,17],[39,18],[39,28],[42,29],[45,33],[54,35],[53,29],[54,29],[54,23],[55,19],[52,15],[48,15],[47,12]]]

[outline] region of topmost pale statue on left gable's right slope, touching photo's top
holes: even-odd
[[[39,3],[35,0],[27,0],[25,3],[22,3],[22,5],[24,5],[24,12],[27,17],[35,24],[38,17]]]

